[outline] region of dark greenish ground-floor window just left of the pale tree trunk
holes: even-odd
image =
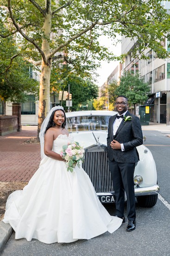
[[[21,115],[35,115],[35,95],[27,95],[27,101],[21,104]]]

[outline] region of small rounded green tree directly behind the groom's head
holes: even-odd
[[[125,95],[128,98],[128,102],[133,104],[143,103],[148,98],[148,93],[151,91],[149,85],[143,82],[139,74],[125,73],[120,78],[120,86],[116,89],[115,93],[118,95]]]

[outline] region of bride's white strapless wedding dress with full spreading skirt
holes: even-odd
[[[53,151],[59,154],[68,141],[74,141],[71,134],[59,135]],[[65,162],[45,156],[28,185],[9,195],[3,222],[12,226],[16,239],[71,243],[113,233],[122,219],[102,206],[82,167],[71,173]]]

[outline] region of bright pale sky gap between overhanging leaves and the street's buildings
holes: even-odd
[[[117,46],[113,46],[112,40],[102,36],[100,38],[101,45],[108,47],[109,50],[113,51],[113,53],[117,56],[121,54],[121,43],[118,43]],[[97,69],[96,73],[99,74],[97,78],[97,85],[102,86],[104,82],[107,81],[107,77],[113,72],[115,67],[119,64],[119,61],[111,61],[108,63],[107,61],[101,62],[101,67]]]

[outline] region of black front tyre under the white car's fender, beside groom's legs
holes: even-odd
[[[151,208],[157,203],[157,195],[137,196],[139,206]]]

